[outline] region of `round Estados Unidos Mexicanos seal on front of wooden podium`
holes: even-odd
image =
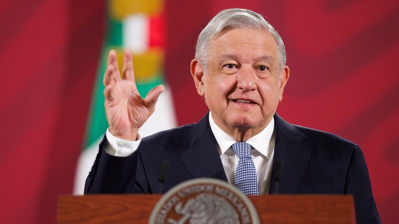
[[[252,202],[227,183],[210,178],[183,182],[156,204],[149,224],[259,224]]]

